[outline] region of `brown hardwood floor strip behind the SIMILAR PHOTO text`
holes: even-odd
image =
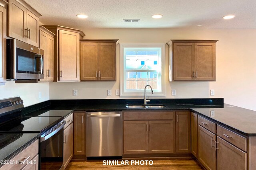
[[[66,170],[204,170],[192,158],[140,159],[144,161],[153,160],[152,165],[135,165],[135,162],[131,165],[132,160],[135,161],[135,159],[128,160],[126,165],[121,165],[122,160],[118,160],[119,165],[103,165],[103,160],[72,160]],[[139,159],[136,160],[138,161]],[[146,164],[146,161],[144,163]],[[123,160],[123,164],[125,164],[125,160]]]

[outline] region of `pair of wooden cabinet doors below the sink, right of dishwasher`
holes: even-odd
[[[124,121],[123,154],[173,153],[173,121]]]

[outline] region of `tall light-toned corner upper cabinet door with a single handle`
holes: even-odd
[[[59,81],[79,81],[79,33],[59,30]]]

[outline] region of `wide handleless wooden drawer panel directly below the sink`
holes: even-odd
[[[173,120],[172,111],[125,111],[124,120]]]

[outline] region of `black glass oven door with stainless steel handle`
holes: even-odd
[[[63,127],[62,121],[41,135],[40,169],[63,169]]]

